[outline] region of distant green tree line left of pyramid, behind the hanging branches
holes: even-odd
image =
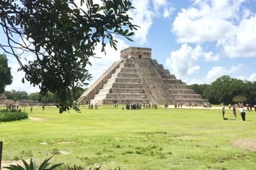
[[[87,90],[87,88],[85,88],[85,89],[79,88],[78,93],[75,93],[75,92],[72,93],[72,98],[74,100],[77,100],[83,94],[83,92],[86,90]],[[26,91],[16,91],[16,90],[5,91],[4,94],[7,97],[7,99],[12,99],[12,100],[27,99],[27,100],[38,101],[38,102],[44,103],[44,104],[59,102],[58,97],[50,91],[48,91],[48,94],[46,96],[41,95],[40,92],[28,94]]]

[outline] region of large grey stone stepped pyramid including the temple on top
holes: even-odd
[[[120,53],[121,59],[81,95],[80,104],[208,103],[152,60],[151,48],[129,47]]]

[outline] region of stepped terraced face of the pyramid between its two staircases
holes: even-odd
[[[148,103],[148,96],[143,89],[141,79],[134,63],[124,59],[116,72],[107,80],[91,103]]]

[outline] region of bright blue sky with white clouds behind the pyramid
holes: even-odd
[[[77,0],[78,4],[80,0]],[[94,1],[96,3],[98,1]],[[107,54],[96,47],[88,70],[95,82],[114,61],[120,50],[132,47],[152,48],[152,58],[177,79],[190,84],[210,84],[222,75],[256,81],[256,1],[255,0],[134,0],[136,10],[129,11],[141,28],[129,42],[117,36],[118,50],[109,46]],[[84,7],[82,7],[84,8]],[[2,30],[1,30],[2,31]],[[3,33],[0,31],[0,36]],[[0,39],[0,41],[5,41]],[[0,53],[3,51],[0,50]],[[24,54],[33,60],[31,54]],[[8,55],[13,83],[5,90],[39,91],[29,82],[21,83],[24,73],[13,56]],[[25,62],[24,59],[22,59]]]

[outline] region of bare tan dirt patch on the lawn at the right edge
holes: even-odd
[[[255,140],[236,139],[236,140],[230,141],[230,143],[233,146],[239,147],[239,148],[244,149],[244,150],[256,151],[256,141]]]

